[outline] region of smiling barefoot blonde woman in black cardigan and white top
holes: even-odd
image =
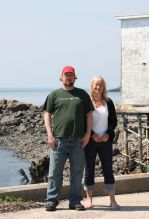
[[[92,193],[94,188],[95,160],[97,154],[101,160],[104,187],[110,197],[110,207],[120,208],[115,200],[115,180],[112,169],[112,141],[117,125],[115,107],[111,99],[106,97],[106,84],[101,76],[91,81],[90,96],[95,110],[93,111],[93,128],[90,141],[85,147],[86,167],[85,185],[87,208],[92,206]]]

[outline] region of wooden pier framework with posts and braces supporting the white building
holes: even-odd
[[[124,130],[124,152],[121,152],[121,155],[125,157],[126,168],[129,167],[130,160],[128,138],[130,133],[138,139],[139,157],[135,158],[135,162],[140,165],[140,169],[143,167],[149,168],[149,112],[117,112],[117,118],[118,121],[122,120]],[[132,125],[132,119],[135,125]],[[146,159],[143,159],[144,146],[146,146]],[[147,165],[144,164],[146,161]]]

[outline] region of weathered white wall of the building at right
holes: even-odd
[[[149,105],[149,17],[121,20],[121,103]]]

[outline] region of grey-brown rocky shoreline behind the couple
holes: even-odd
[[[135,124],[134,118],[130,125]],[[113,144],[113,169],[115,175],[146,172],[136,162],[138,157],[138,139],[129,135],[129,167],[126,167],[124,154],[124,129],[121,119],[118,119],[117,141]],[[31,162],[30,173],[32,182],[47,181],[48,173],[48,144],[43,122],[41,107],[21,103],[16,100],[0,100],[0,145],[15,151],[18,157]],[[147,163],[146,147],[143,148],[144,164]],[[21,167],[20,167],[21,169]],[[99,171],[100,170],[100,171]],[[100,161],[96,160],[96,176],[101,176]],[[22,175],[23,176],[23,175]],[[25,177],[25,176],[24,176]],[[64,180],[69,179],[69,164],[66,163]]]

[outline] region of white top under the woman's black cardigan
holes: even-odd
[[[95,108],[93,111],[93,128],[92,130],[100,137],[108,130],[108,106]]]

